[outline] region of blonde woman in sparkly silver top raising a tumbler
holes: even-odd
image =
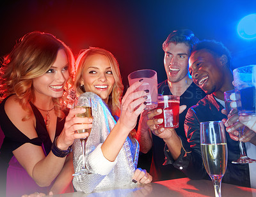
[[[143,80],[131,85],[121,102],[124,85],[118,62],[110,52],[102,48],[84,50],[76,67],[76,92],[92,99],[93,126],[86,142],[88,171],[74,177],[74,187],[90,193],[112,186],[151,182],[147,171],[136,169],[139,144],[131,135],[138,115],[147,104],[148,91],[136,92]],[[75,140],[73,147],[74,170],[79,171],[82,167],[79,140]]]

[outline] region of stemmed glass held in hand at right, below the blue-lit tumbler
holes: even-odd
[[[230,96],[234,98],[231,99]],[[227,113],[229,113],[232,110],[232,107],[230,106],[230,104],[232,103],[232,101],[235,100],[235,90],[224,92],[224,100],[225,100],[225,108],[227,110]],[[243,135],[244,126],[241,126],[236,130],[239,132],[239,137],[240,137]],[[250,159],[250,157],[246,155],[244,142],[238,141],[238,143],[239,143],[239,149],[240,149],[240,157],[236,161],[232,161],[232,163],[235,163],[235,164],[255,163],[256,162],[255,159]]]

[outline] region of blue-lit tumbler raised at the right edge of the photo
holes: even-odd
[[[233,73],[239,115],[256,115],[256,65],[236,68]]]

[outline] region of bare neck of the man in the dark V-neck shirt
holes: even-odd
[[[168,80],[168,86],[173,95],[181,96],[193,82],[192,78],[188,75],[179,82],[170,82]]]

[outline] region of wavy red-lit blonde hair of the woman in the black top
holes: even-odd
[[[58,40],[52,34],[34,31],[23,36],[15,45],[12,52],[3,59],[0,69],[0,93],[1,100],[10,94],[16,94],[22,108],[29,112],[28,119],[32,115],[29,102],[35,99],[33,91],[33,79],[44,75],[54,63],[58,50],[63,49],[67,54],[68,72],[70,77],[65,85],[65,92],[73,85],[74,56],[70,48]],[[58,117],[63,118],[63,101],[61,98],[52,98],[54,110]]]

